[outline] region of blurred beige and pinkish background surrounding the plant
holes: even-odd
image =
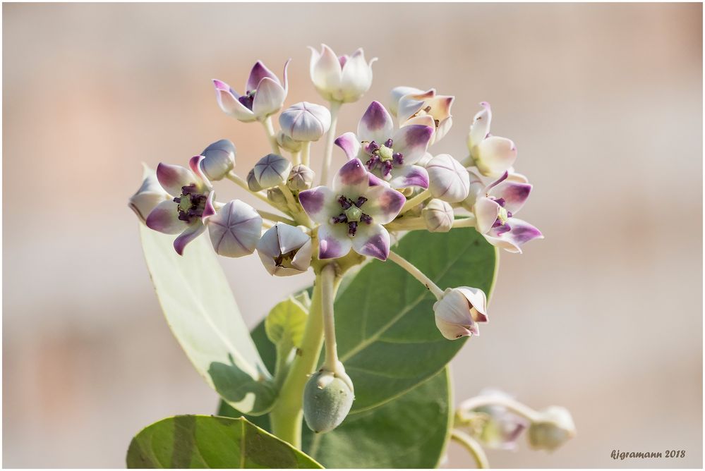
[[[380,58],[341,133],[396,85],[436,87],[457,100],[432,150],[464,155],[486,100],[535,185],[522,218],[546,240],[502,254],[491,323],[452,364],[455,397],[494,386],[564,405],[578,436],[550,455],[490,452],[493,467],[701,467],[701,8],[4,4],[3,465],[123,467],[142,427],[215,411],[127,199],[140,162],[186,164],[222,137],[245,175],[267,142],[219,110],[210,79],[241,90],[256,60],[280,73],[291,57],[287,104],[320,103],[306,46],[325,42]],[[248,200],[231,187],[221,199]],[[311,281],[272,279],[256,256],[222,265],[249,326],[267,293]],[[617,463],[617,448],[686,455]],[[446,466],[469,465],[451,445]]]

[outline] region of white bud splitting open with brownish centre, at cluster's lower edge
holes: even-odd
[[[278,222],[260,238],[257,253],[270,274],[291,276],[308,270],[313,245],[301,229]]]

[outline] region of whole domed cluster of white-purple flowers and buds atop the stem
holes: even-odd
[[[362,49],[337,56],[325,45],[311,54],[311,80],[328,106],[301,102],[284,109],[289,61],[281,78],[261,61],[255,63],[242,94],[213,80],[220,109],[243,123],[260,123],[270,149],[241,175],[235,171],[236,147],[225,139],[191,157],[188,169],[161,163],[145,172],[131,208],[155,231],[178,234],[174,249],[180,255],[207,231],[217,254],[243,257],[256,250],[273,276],[309,268],[320,274],[331,264],[340,269],[366,257],[390,259],[435,295],[442,336],[478,335],[478,324],[488,320],[485,293],[470,286],[439,288],[390,250],[390,233],[474,227],[508,252],[521,252],[524,243],[542,238],[516,217],[532,187],[514,172],[514,142],[490,135],[492,114],[483,102],[469,128],[467,149],[455,156],[434,154],[431,146],[452,128],[454,97],[406,86],[390,92],[386,107],[371,101],[354,132],[338,133],[339,109],[368,92],[376,59],[366,61]],[[272,120],[277,114],[278,131]],[[323,137],[317,181],[311,143]],[[347,161],[328,182],[335,146]],[[212,182],[223,180],[270,208],[217,200]],[[335,345],[326,338],[331,341]],[[344,377],[338,363],[330,362],[330,371],[322,374]]]

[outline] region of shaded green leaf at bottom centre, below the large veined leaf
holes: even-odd
[[[380,407],[348,415],[332,432],[313,434],[304,425],[303,451],[328,468],[437,467],[451,418],[443,369]]]

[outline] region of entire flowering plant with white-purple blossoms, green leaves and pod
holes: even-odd
[[[236,146],[221,139],[186,154],[188,166],[145,166],[129,204],[152,283],[221,403],[216,416],[143,429],[129,467],[435,467],[449,439],[485,467],[483,446],[512,448],[526,431],[530,446],[553,450],[574,435],[564,408],[537,412],[496,391],[453,407],[447,365],[490,318],[498,250],[543,238],[516,217],[532,187],[514,171],[514,142],[490,135],[485,102],[455,155],[433,152],[454,104],[434,89],[397,87],[355,130],[337,130],[375,60],[312,49],[328,106],[284,109],[289,61],[282,76],[255,63],[242,93],[213,80],[222,111],[263,126],[263,157],[240,173]],[[219,200],[225,182],[258,207]],[[250,332],[215,255],[253,252],[272,276],[313,271],[315,281]]]

